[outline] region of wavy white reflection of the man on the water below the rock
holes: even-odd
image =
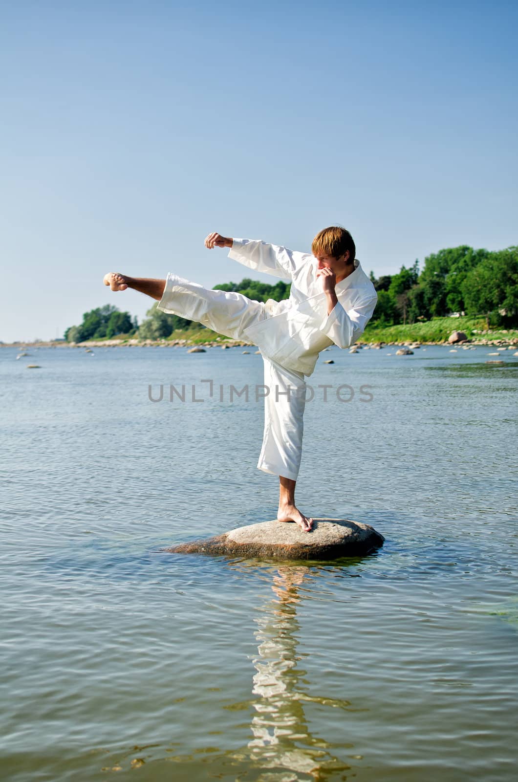
[[[253,692],[257,700],[252,701],[254,738],[249,742],[246,754],[256,768],[277,769],[278,772],[271,770],[261,775],[261,780],[288,782],[308,777],[323,780],[330,773],[349,768],[329,752],[330,745],[326,741],[311,735],[304,713],[304,707],[310,703],[331,708],[349,706],[347,701],[318,698],[300,688],[301,677],[306,672],[297,667],[300,659],[297,656],[300,629],[297,605],[301,599],[300,586],[310,573],[314,576],[315,569],[288,565],[279,568],[272,585],[275,597],[264,604],[255,620],[255,637],[259,645],[258,656],[254,659],[257,673]]]

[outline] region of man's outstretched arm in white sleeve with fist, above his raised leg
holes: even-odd
[[[294,253],[286,247],[270,245],[260,239],[229,239],[217,232],[209,234],[205,239],[208,249],[213,247],[229,247],[228,257],[239,261],[254,271],[273,274],[284,280],[293,279],[293,274],[301,265],[308,262],[308,253]]]

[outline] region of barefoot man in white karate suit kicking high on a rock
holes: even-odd
[[[138,290],[158,300],[167,313],[198,321],[232,339],[256,344],[264,360],[264,437],[257,467],[279,475],[279,522],[295,522],[309,532],[313,519],[295,505],[302,453],[304,375],[311,375],[318,353],[330,345],[349,347],[362,334],[376,307],[376,290],[358,260],[345,228],[320,231],[311,252],[293,253],[259,240],[229,239],[216,232],[207,249],[228,247],[241,264],[290,280],[290,298],[266,303],[240,293],[207,290],[175,274],[166,280],[106,274],[113,291]]]

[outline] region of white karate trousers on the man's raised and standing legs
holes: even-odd
[[[262,302],[241,293],[209,290],[176,274],[167,274],[158,307],[232,339],[246,339],[244,329],[268,317]],[[264,435],[257,467],[297,480],[304,431],[304,375],[268,357],[263,356],[263,361]]]

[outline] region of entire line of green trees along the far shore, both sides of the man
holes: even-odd
[[[372,324],[415,323],[458,312],[484,315],[488,327],[518,325],[518,247],[495,252],[465,245],[441,249],[425,258],[422,271],[416,260],[411,267],[402,266],[397,274],[376,278],[371,271],[370,278],[378,292]],[[246,277],[241,282],[215,285],[214,289],[237,291],[256,301],[281,301],[290,296],[290,283],[282,280],[268,285]],[[177,329],[192,325],[185,317],[157,310],[156,304],[146,315],[138,326],[136,317],[106,304],[86,312],[81,325],[67,328],[65,339],[82,342],[121,335],[167,339]]]

